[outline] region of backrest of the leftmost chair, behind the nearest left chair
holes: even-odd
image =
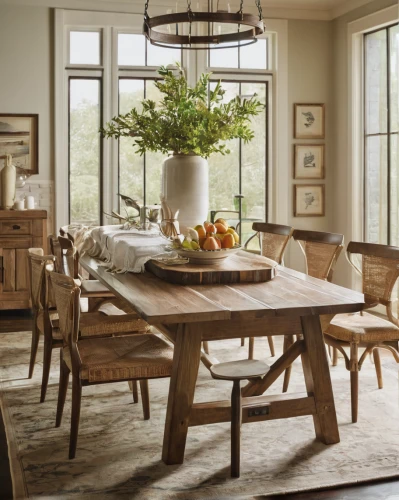
[[[42,248],[29,248],[28,259],[32,306],[36,311],[43,310],[47,303],[45,270],[53,270],[55,258],[43,255]]]

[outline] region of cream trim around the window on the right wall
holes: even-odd
[[[351,193],[349,240],[364,239],[364,35],[398,21],[392,6],[348,24],[348,193]],[[352,271],[351,287],[361,288]]]

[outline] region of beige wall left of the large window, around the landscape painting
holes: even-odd
[[[0,5],[0,113],[39,114],[39,174],[54,179],[52,9]]]

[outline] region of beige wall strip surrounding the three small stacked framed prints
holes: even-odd
[[[289,178],[287,179],[287,197],[289,205],[288,224],[297,229],[314,231],[332,231],[333,193],[331,181],[334,175],[331,161],[332,130],[332,23],[330,21],[288,21],[288,101],[289,120],[287,133],[289,136]],[[324,103],[326,110],[326,136],[324,140],[294,139],[293,120],[294,103]],[[325,144],[326,179],[301,181],[293,179],[294,144]],[[293,216],[293,185],[325,184],[326,215],[325,217]],[[304,270],[304,260],[299,247],[290,242],[286,263]]]

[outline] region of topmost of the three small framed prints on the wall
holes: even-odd
[[[324,139],[324,104],[294,104],[294,137],[295,139]]]

